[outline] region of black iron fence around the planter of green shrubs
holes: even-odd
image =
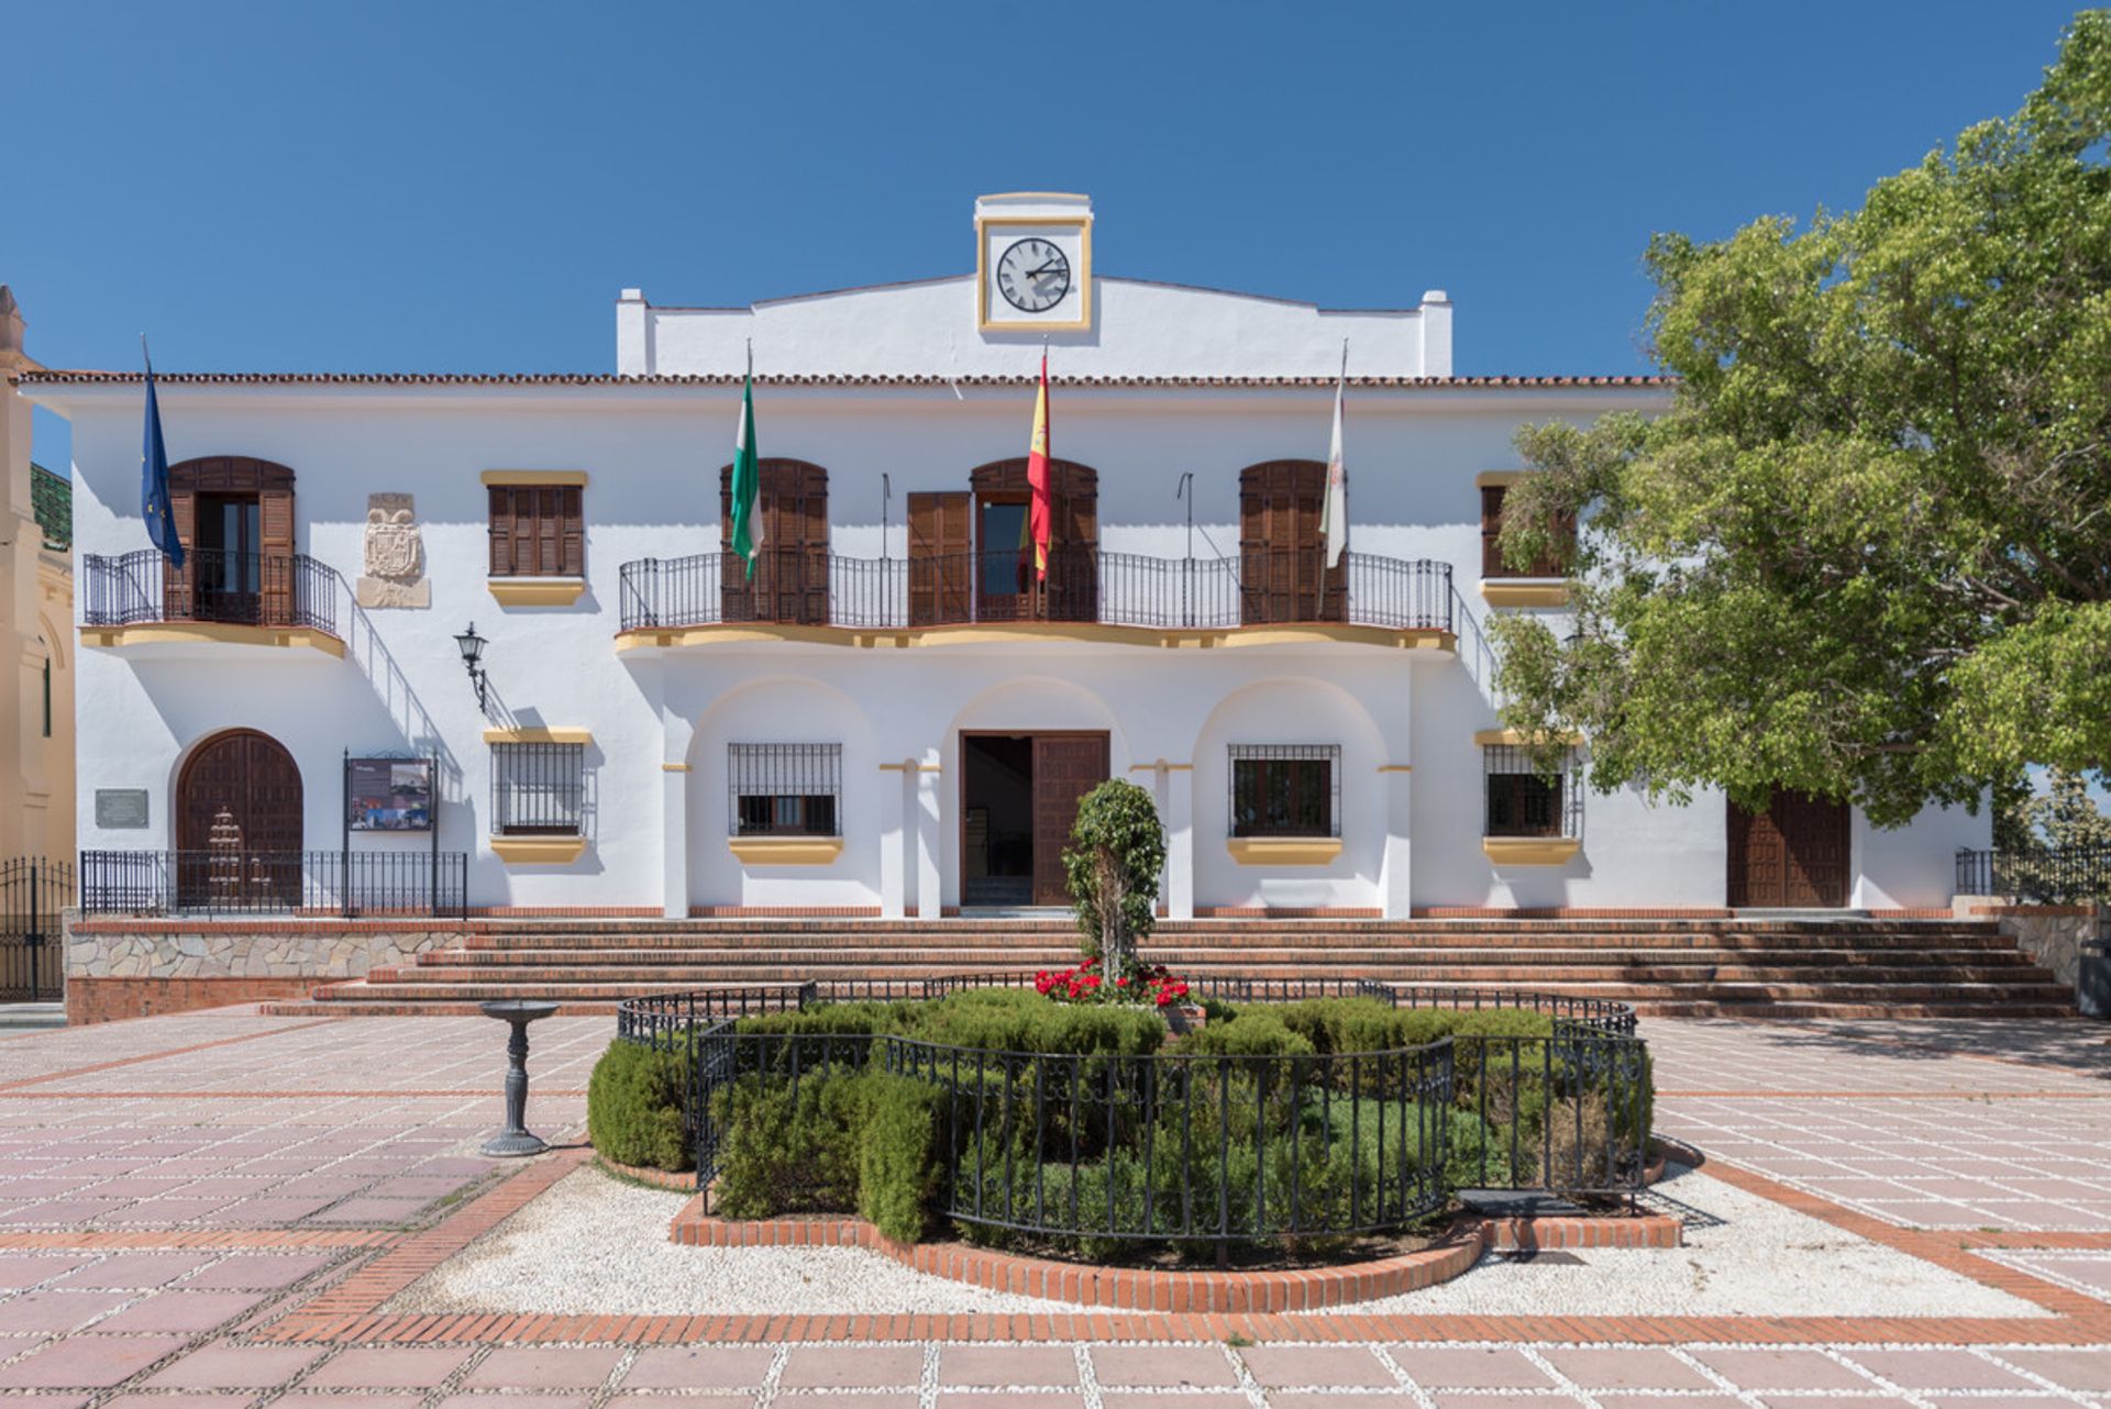
[[[1393,1006],[1537,1012],[1547,1029],[1452,1034],[1319,1055],[1018,1053],[899,1034],[743,1034],[745,1012],[920,1000],[1034,974],[840,981],[665,993],[616,1036],[686,1050],[699,1188],[747,1103],[880,1069],[935,1086],[937,1211],[1085,1251],[1397,1230],[1457,1190],[1630,1196],[1649,1160],[1649,1050],[1625,1004],[1372,981],[1197,981],[1199,998],[1364,996]]]

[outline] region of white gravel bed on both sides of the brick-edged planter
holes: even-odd
[[[1676,1171],[1676,1166],[1674,1166]],[[1484,1257],[1465,1276],[1362,1312],[1606,1316],[2046,1316],[1955,1272],[1856,1238],[1695,1171],[1659,1185],[1687,1247]],[[595,1169],[399,1293],[391,1312],[893,1314],[1072,1310],[982,1291],[863,1249],[699,1249],[667,1240],[684,1196]],[[1697,1215],[1697,1217],[1693,1217]]]

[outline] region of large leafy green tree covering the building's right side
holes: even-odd
[[[1575,626],[1495,624],[1505,721],[1598,787],[1775,787],[1896,825],[2027,764],[2111,761],[2111,11],[2012,118],[1862,209],[1657,236],[1657,420],[1520,432],[1516,565]]]

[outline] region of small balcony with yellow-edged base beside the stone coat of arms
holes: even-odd
[[[344,654],[336,570],[306,557],[188,553],[171,567],[158,548],[80,559],[80,639],[106,650],[310,648]]]

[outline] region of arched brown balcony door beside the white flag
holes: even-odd
[[[1345,620],[1349,574],[1326,565],[1324,500],[1317,460],[1239,470],[1239,620],[1248,626]]]

